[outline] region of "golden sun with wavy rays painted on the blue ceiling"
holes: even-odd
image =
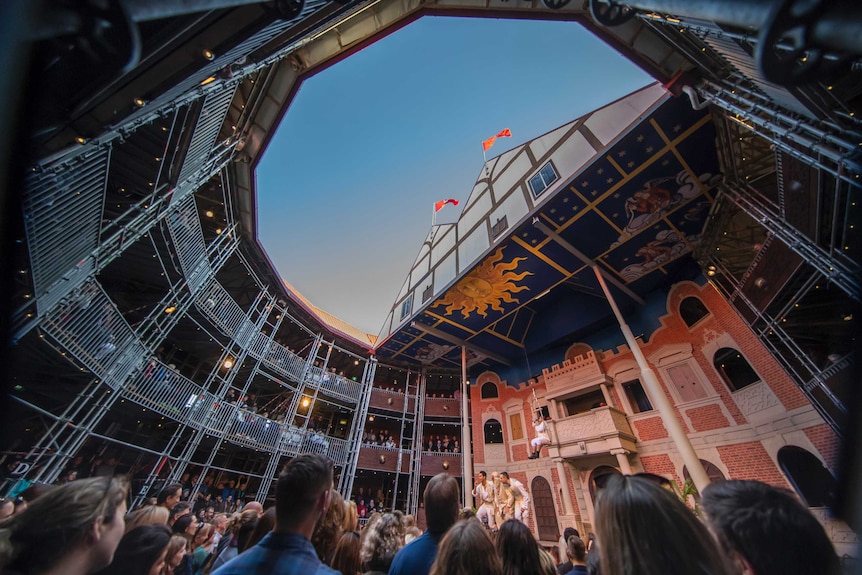
[[[532,275],[532,272],[513,271],[526,259],[514,258],[510,262],[503,262],[503,248],[498,249],[450,288],[437,305],[446,306],[446,315],[460,311],[464,319],[468,319],[473,312],[487,317],[488,308],[503,311],[501,304],[518,303],[512,294],[530,289],[514,283]]]

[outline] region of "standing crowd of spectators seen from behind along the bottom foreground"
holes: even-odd
[[[825,530],[799,499],[756,481],[708,486],[701,518],[654,478],[613,476],[597,495],[595,538],[568,528],[562,556],[520,521],[506,520],[494,532],[471,509],[462,510],[459,482],[446,473],[425,488],[424,533],[400,511],[375,509],[360,521],[359,505],[333,488],[332,461],[323,455],[288,462],[266,512],[250,501],[233,513],[195,513],[183,499],[183,483],[166,485],[155,501],[127,513],[128,496],[123,477],[50,486],[0,520],[0,572],[837,575],[841,569]]]

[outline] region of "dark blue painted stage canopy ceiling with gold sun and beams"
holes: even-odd
[[[694,277],[690,254],[721,179],[709,113],[668,99],[611,139],[613,145],[540,196],[532,217],[429,300],[415,321],[437,336],[402,327],[380,355],[455,367],[465,341],[475,347],[474,365],[518,363],[524,342],[528,349],[559,345],[612,322],[593,271],[535,227],[533,217],[640,297]],[[633,311],[635,299],[611,290]]]

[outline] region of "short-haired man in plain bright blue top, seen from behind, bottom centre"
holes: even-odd
[[[448,473],[439,473],[431,478],[423,495],[427,529],[398,552],[389,568],[389,575],[428,575],[437,558],[440,540],[458,520],[460,500],[457,479]]]

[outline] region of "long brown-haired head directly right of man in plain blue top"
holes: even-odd
[[[415,544],[415,543],[414,543]],[[430,575],[502,575],[503,566],[482,522],[471,517],[452,526],[440,541]]]

